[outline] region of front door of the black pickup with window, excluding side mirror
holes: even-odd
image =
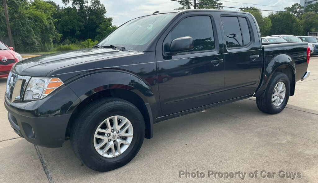
[[[220,29],[206,12],[184,14],[159,41],[157,78],[163,115],[216,103],[224,88],[224,54],[218,39]],[[191,50],[168,56],[165,52],[173,39],[190,36]]]

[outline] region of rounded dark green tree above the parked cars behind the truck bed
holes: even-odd
[[[297,18],[287,12],[277,12],[268,15],[272,22],[272,27],[269,33],[275,34],[290,34],[299,35],[302,33],[301,23]]]

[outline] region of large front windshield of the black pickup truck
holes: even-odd
[[[174,13],[157,14],[133,19],[114,30],[101,40],[99,45],[124,46],[127,50],[144,51],[174,15]]]

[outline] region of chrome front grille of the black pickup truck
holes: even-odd
[[[13,72],[9,73],[7,80],[6,97],[11,101],[22,100],[26,85],[31,77],[19,76]]]

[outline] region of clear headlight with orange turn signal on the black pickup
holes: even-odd
[[[63,84],[59,78],[32,77],[25,89],[24,100],[42,99]]]

